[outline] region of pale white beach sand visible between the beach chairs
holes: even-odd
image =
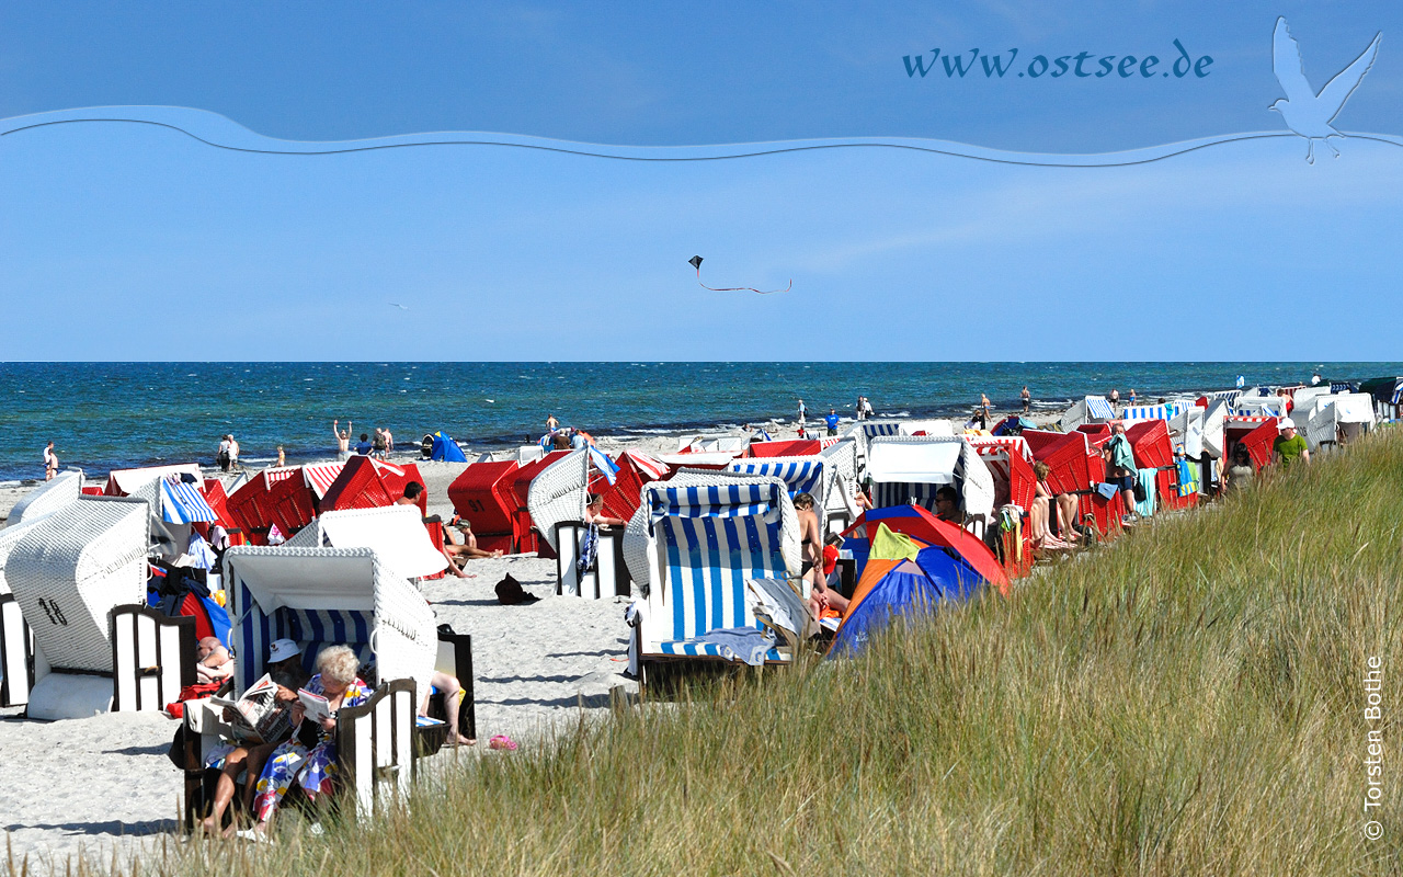
[[[1040,420],[1056,417],[1049,413]],[[610,455],[626,448],[673,453],[680,435],[599,438],[598,443]],[[796,438],[790,425],[772,435]],[[417,460],[404,455],[398,462]],[[452,514],[442,491],[462,466],[421,463],[431,512]],[[0,488],[0,518],[29,490]],[[473,578],[424,585],[438,620],[471,634],[477,676],[478,745],[460,754],[445,749],[434,756],[435,763],[509,758],[488,751],[487,739],[508,734],[523,747],[536,745],[549,728],[577,720],[581,710],[588,717],[606,714],[612,688],[637,692],[620,675],[627,667],[626,601],[556,596],[556,561],[535,554],[477,560],[469,573]],[[499,605],[494,587],[506,573],[542,599]],[[22,718],[18,709],[0,710],[0,826],[15,862],[28,856],[32,867],[56,857],[62,870],[63,859],[80,850],[109,857],[114,849],[159,849],[160,835],[178,825],[184,794],[184,776],[166,758],[175,727],[153,713],[41,723]]]

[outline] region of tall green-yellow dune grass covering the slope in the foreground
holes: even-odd
[[[405,812],[185,874],[1381,874],[1403,869],[1403,434],[1170,516],[860,660],[470,759]],[[1367,658],[1385,801],[1365,815]],[[1397,679],[1397,682],[1395,681]],[[1368,841],[1367,819],[1385,826]]]

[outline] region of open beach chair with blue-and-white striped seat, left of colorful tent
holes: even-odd
[[[709,634],[762,627],[748,582],[796,578],[798,539],[779,478],[682,471],[645,486],[624,536],[630,573],[647,595],[630,606],[630,669],[676,658],[745,661],[731,637]],[[788,660],[781,648],[763,654],[765,662]]]

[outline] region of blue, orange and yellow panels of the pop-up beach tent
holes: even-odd
[[[828,654],[856,654],[895,617],[913,617],[936,610],[943,602],[968,599],[984,581],[962,557],[877,523],[867,565]]]

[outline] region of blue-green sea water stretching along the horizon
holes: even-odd
[[[212,464],[233,432],[248,464],[335,450],[331,421],[389,427],[400,446],[445,429],[474,450],[535,441],[547,414],[595,435],[793,421],[859,394],[878,415],[965,415],[988,393],[1013,411],[1135,387],[1159,394],[1403,373],[1403,363],[1261,362],[101,362],[0,363],[0,480],[43,477],[48,441],[65,467]]]

